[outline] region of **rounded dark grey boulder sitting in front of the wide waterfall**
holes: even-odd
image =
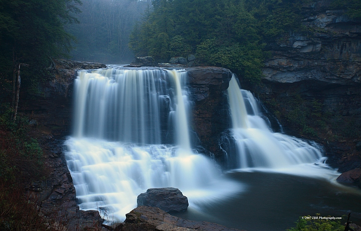
[[[188,198],[177,188],[149,188],[138,195],[137,204],[157,207],[166,212],[181,212],[187,210]]]

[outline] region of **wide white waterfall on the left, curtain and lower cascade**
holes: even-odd
[[[109,68],[78,74],[66,159],[80,209],[101,209],[122,220],[148,188],[179,188],[190,204],[240,190],[191,150],[185,71]]]

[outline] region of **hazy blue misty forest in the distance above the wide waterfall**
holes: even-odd
[[[71,58],[107,64],[131,61],[129,35],[133,27],[139,26],[135,22],[150,0],[82,0],[82,3],[79,7],[82,12],[77,15],[80,23],[66,27],[76,38]]]

